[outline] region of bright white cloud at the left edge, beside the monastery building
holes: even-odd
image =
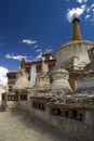
[[[8,68],[0,66],[0,85],[6,85],[8,78],[6,78],[6,73]]]

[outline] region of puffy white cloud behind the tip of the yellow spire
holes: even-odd
[[[77,14],[78,16],[82,15],[85,9],[86,9],[85,4],[81,5],[80,8],[68,9],[67,20],[70,22],[72,20],[73,14]]]

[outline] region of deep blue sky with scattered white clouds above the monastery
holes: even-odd
[[[72,39],[72,14],[81,20],[83,39],[94,41],[93,0],[0,0],[0,84],[27,61],[53,54]]]

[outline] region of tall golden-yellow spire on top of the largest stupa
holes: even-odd
[[[79,27],[80,20],[77,14],[73,14],[72,23],[73,23],[72,40],[82,40],[82,36],[80,33],[80,27]]]

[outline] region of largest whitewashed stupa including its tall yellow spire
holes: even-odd
[[[69,82],[73,90],[78,88],[78,84],[73,78],[90,63],[88,51],[94,46],[94,42],[82,39],[79,22],[80,20],[76,15],[72,21],[72,41],[63,44],[55,53],[59,67],[69,72]]]

